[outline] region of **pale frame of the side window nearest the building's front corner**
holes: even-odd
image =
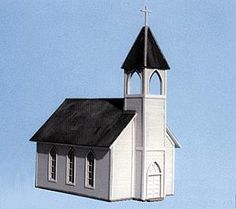
[[[92,175],[92,177],[93,177],[93,185],[91,185],[90,183],[89,183],[89,170],[88,170],[88,167],[89,167],[89,162],[88,162],[88,155],[89,154],[92,154],[92,156],[93,156],[93,175]],[[88,188],[88,189],[95,189],[95,178],[96,177],[96,157],[95,157],[95,154],[94,154],[94,152],[93,151],[89,151],[87,154],[86,154],[86,158],[85,158],[85,187],[86,188]]]

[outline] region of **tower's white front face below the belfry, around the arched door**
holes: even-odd
[[[143,196],[147,197],[147,171],[156,162],[161,169],[161,197],[165,196],[165,134],[166,115],[165,97],[147,96],[144,100],[145,110],[145,168],[143,174]]]

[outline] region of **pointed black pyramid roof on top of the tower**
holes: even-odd
[[[144,61],[145,27],[147,27],[146,66]],[[145,67],[151,69],[157,68],[162,70],[170,69],[164,55],[161,52],[161,49],[159,48],[151,32],[151,29],[148,26],[144,26],[141,29],[121,68],[125,69],[126,72],[130,72],[134,69],[140,70]]]

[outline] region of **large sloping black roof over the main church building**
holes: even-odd
[[[66,99],[30,141],[109,147],[134,117],[124,99]]]

